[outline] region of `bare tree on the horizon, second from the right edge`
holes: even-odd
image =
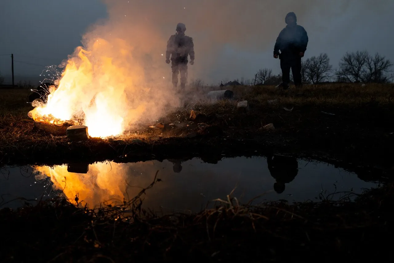
[[[359,82],[362,80],[363,69],[368,60],[368,52],[346,52],[339,62],[335,75],[340,81]]]

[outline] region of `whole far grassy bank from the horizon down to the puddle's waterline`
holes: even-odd
[[[118,136],[115,140],[91,139],[79,144],[70,143],[65,136],[35,131],[27,117],[31,107],[24,101],[26,91],[0,90],[4,103],[0,110],[0,163],[184,154],[180,151],[243,154],[256,150],[261,154],[319,152],[331,159],[349,159],[350,156],[349,162],[361,164],[388,166],[391,163],[388,156],[394,154],[392,84],[306,85],[301,90],[288,91],[272,86],[230,89],[237,100],[189,101],[182,108],[168,110],[168,114],[159,119],[167,124],[187,123],[187,128],[152,131],[137,126],[127,136]],[[278,104],[268,103],[275,99]],[[249,112],[238,111],[240,100],[249,102]],[[284,107],[293,110],[289,112]],[[212,118],[199,123],[188,122],[190,110]],[[275,131],[261,129],[269,123],[273,123]],[[180,147],[175,151],[172,145]],[[232,145],[231,149],[227,145]]]

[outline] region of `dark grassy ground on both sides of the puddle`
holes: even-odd
[[[0,90],[0,167],[64,164],[84,160],[163,160],[279,153],[322,160],[385,182],[353,202],[330,201],[259,206],[240,204],[229,193],[215,209],[158,216],[141,209],[148,188],[121,207],[91,210],[78,200],[43,201],[0,210],[7,246],[5,262],[123,262],[366,260],[392,255],[387,237],[393,224],[394,85],[232,87],[237,100],[188,103],[159,119],[163,128],[136,125],[125,135],[70,142],[34,128],[25,90]],[[277,103],[269,103],[277,100]],[[286,109],[288,110],[286,110]],[[289,110],[292,109],[292,110]],[[190,121],[191,110],[204,114]],[[170,123],[176,123],[169,126]],[[264,126],[272,123],[275,130]],[[187,126],[188,125],[188,126]],[[352,195],[352,193],[349,193]],[[355,195],[355,194],[353,194]],[[16,232],[20,231],[20,234]],[[12,246],[12,248],[10,248]],[[359,251],[365,251],[360,253]],[[320,257],[319,257],[320,256]]]

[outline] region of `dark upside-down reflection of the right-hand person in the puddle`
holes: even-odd
[[[295,157],[271,155],[267,158],[268,170],[276,180],[273,189],[281,194],[285,189],[285,183],[290,183],[298,173],[298,162]]]

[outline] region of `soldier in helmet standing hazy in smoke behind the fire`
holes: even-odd
[[[177,24],[177,34],[171,35],[167,41],[165,52],[165,63],[170,63],[172,82],[174,88],[178,85],[178,73],[180,73],[180,87],[184,90],[188,73],[188,55],[190,55],[190,65],[194,64],[194,44],[193,39],[185,35],[186,26],[182,23]]]

